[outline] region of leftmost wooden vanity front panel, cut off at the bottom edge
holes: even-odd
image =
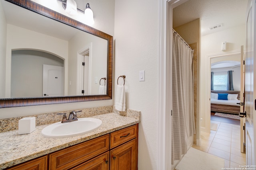
[[[8,170],[47,170],[47,156],[30,160]]]

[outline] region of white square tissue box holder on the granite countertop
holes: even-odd
[[[36,117],[24,117],[19,120],[18,134],[28,134],[36,129]]]

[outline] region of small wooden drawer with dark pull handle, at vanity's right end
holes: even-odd
[[[137,137],[138,124],[110,133],[110,149]]]

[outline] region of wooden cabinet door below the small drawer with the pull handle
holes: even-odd
[[[111,170],[137,170],[138,144],[137,139],[110,151]]]

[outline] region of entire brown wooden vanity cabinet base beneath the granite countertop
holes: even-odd
[[[137,170],[137,164],[138,124],[30,160],[10,170]]]

